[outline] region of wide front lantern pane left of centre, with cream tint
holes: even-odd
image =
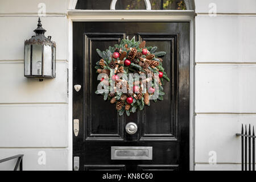
[[[32,46],[32,75],[42,75],[42,46]]]

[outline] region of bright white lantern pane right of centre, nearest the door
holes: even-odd
[[[52,76],[52,46],[44,45],[44,76]]]

